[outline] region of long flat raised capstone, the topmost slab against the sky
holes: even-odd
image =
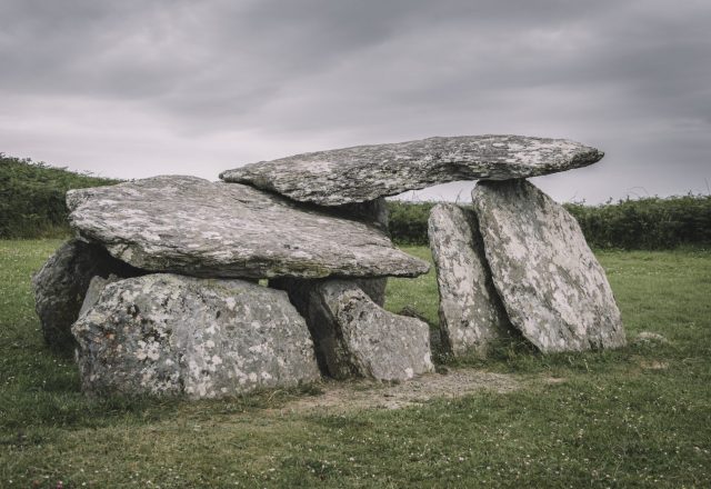
[[[602,151],[564,139],[460,136],[359,146],[247,164],[220,174],[321,206],[374,200],[455,180],[507,180],[585,167]]]

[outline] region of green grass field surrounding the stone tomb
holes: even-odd
[[[58,244],[0,241],[0,487],[711,485],[709,251],[598,253],[628,348],[502,349],[460,363],[514,376],[517,391],[339,413],[288,409],[318,388],[194,403],[84,398],[33,312],[30,273]],[[392,280],[388,293],[389,309],[437,323],[433,276]],[[641,331],[669,342],[638,343]]]

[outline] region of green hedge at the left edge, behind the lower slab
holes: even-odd
[[[67,190],[117,181],[0,153],[0,238],[67,234]]]

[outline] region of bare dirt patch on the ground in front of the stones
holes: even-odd
[[[322,392],[288,402],[280,412],[352,411],[359,409],[400,409],[435,398],[458,398],[482,390],[511,392],[521,387],[514,376],[472,369],[450,369],[402,383],[389,385],[369,380],[327,381]]]

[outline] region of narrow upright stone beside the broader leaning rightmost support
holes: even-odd
[[[442,341],[454,356],[484,357],[508,338],[509,318],[493,287],[477,216],[452,203],[435,206],[428,221],[440,291]]]

